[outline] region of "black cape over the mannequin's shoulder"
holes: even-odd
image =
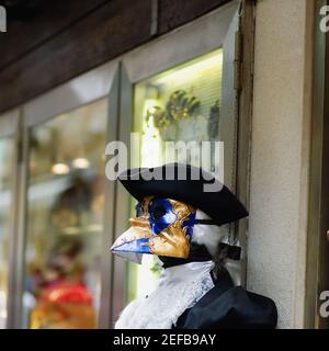
[[[277,312],[268,297],[234,286],[224,271],[192,308],[178,319],[173,329],[270,329],[275,328]]]

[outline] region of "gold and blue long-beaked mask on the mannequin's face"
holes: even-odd
[[[195,208],[171,199],[145,197],[129,219],[131,228],[113,244],[111,250],[140,263],[143,253],[188,258],[195,224]]]

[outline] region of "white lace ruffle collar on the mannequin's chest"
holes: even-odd
[[[158,287],[148,297],[129,303],[115,324],[116,329],[170,329],[186,308],[214,287],[213,261],[190,262],[167,268]]]

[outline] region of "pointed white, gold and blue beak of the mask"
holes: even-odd
[[[150,226],[146,217],[131,218],[131,228],[114,241],[111,251],[128,261],[141,263],[143,253],[151,253],[149,247]]]

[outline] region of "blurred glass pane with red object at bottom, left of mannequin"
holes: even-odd
[[[105,100],[30,133],[23,305],[31,328],[94,328],[100,305]]]

